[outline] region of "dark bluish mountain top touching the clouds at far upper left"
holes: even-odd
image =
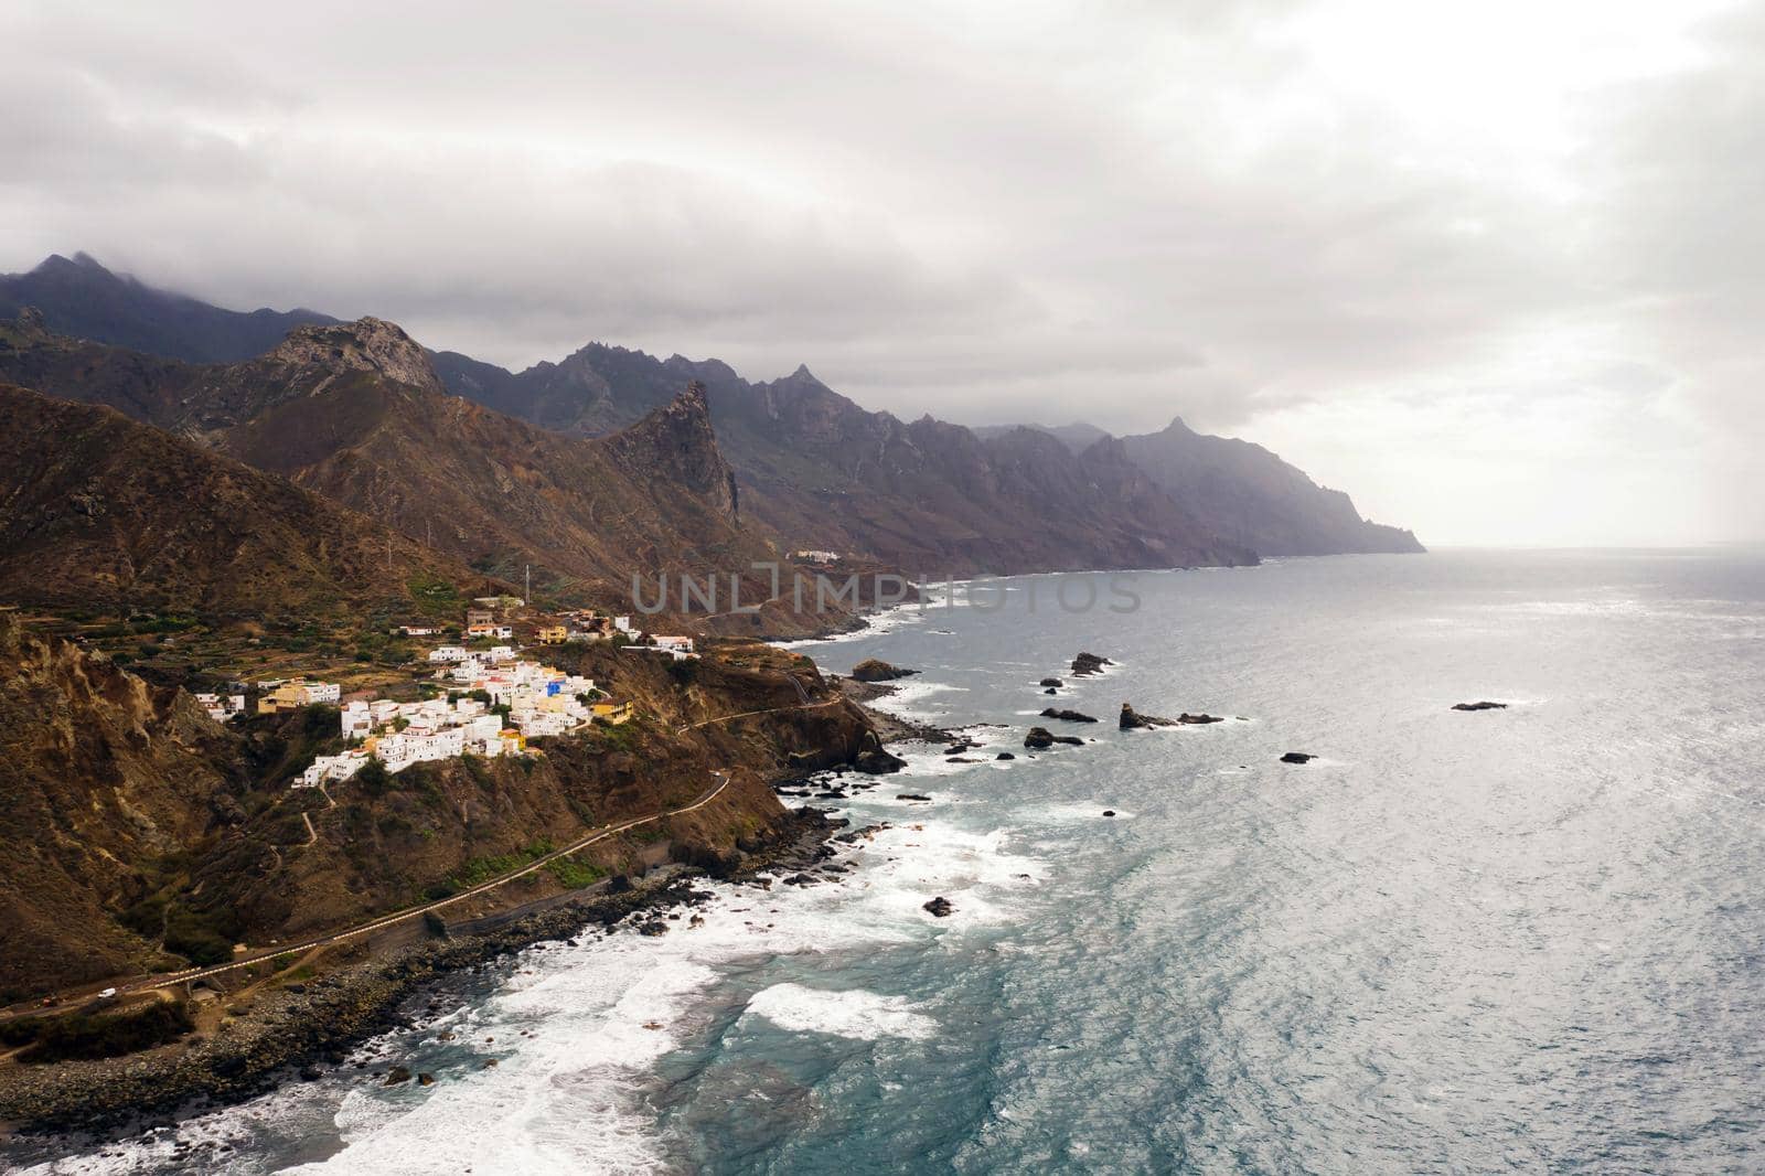
[[[196,364],[242,360],[275,346],[293,327],[337,321],[305,309],[224,311],[113,274],[83,253],[0,275],[0,320],[26,305],[64,335]]]

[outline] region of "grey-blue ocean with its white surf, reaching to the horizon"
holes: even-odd
[[[888,825],[842,849],[849,872],[717,886],[702,927],[457,978],[360,1051],[431,1088],[342,1067],[0,1160],[1765,1167],[1765,556],[1444,551],[937,600],[794,646],[828,671],[918,669],[888,705],[983,745],[976,763],[911,749],[842,803],[854,828]],[[1073,680],[1080,650],[1114,666]],[[1451,710],[1479,699],[1509,708]],[[1227,720],[1123,733],[1124,701]],[[1048,705],[1101,722],[1036,717]],[[1087,743],[1029,754],[1029,726]],[[948,918],[921,909],[939,895]]]

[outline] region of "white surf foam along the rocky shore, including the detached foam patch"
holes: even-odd
[[[941,765],[941,761],[939,761]],[[941,765],[951,766],[951,765]],[[957,768],[964,765],[953,765]],[[902,791],[911,791],[904,788]],[[478,1176],[535,1171],[651,1172],[667,1155],[642,1102],[657,1061],[706,1028],[706,996],[722,969],[766,955],[872,950],[1020,918],[1043,869],[1006,849],[1010,833],[918,825],[911,812],[860,841],[854,872],[808,888],[715,886],[704,925],[667,936],[620,932],[579,946],[524,952],[501,991],[427,1024],[365,1045],[367,1070],[342,1093],[339,1079],[284,1088],[242,1107],[198,1116],[146,1141],[41,1172],[166,1171],[180,1144],[263,1139],[237,1171],[268,1171],[272,1139],[332,1137],[339,1151],[300,1172],[431,1172],[438,1158]],[[950,918],[921,908],[943,895]],[[745,1015],[789,1031],[925,1038],[937,1022],[900,998],[778,984]],[[443,1045],[438,1031],[455,1040]],[[494,1038],[494,1040],[491,1040]],[[418,1058],[417,1052],[424,1051]],[[484,1070],[485,1056],[498,1058]],[[409,1065],[436,1084],[387,1088],[374,1070]],[[286,1146],[286,1144],[284,1144]],[[214,1153],[208,1153],[214,1155]],[[252,1164],[258,1164],[252,1167]]]

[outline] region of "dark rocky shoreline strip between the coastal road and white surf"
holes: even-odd
[[[743,855],[727,881],[810,869],[845,828],[815,809],[794,810],[789,830],[770,846]],[[268,1093],[288,1081],[312,1081],[344,1065],[364,1040],[411,1019],[401,1006],[425,985],[475,969],[537,943],[568,939],[586,929],[630,923],[639,934],[664,934],[667,908],[711,897],[692,885],[708,874],[674,865],[648,881],[600,883],[595,893],[551,904],[494,931],[454,938],[447,932],[378,959],[348,964],[307,984],[286,984],[258,998],[221,1031],[196,1040],[104,1061],[0,1068],[0,1134],[79,1132],[120,1139]]]

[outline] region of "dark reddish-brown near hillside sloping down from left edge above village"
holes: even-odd
[[[452,563],[318,494],[94,404],[0,385],[0,600],[325,614]]]

